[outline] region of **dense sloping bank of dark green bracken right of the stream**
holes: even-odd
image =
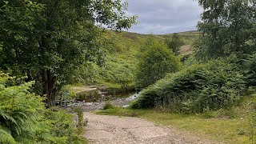
[[[246,91],[238,58],[219,59],[169,74],[142,90],[131,107],[166,106],[170,111],[195,113],[233,106]]]

